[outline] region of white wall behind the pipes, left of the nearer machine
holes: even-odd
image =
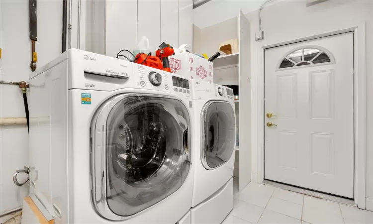
[[[30,71],[28,0],[1,0],[1,75],[3,81],[26,81]],[[62,1],[37,1],[37,66],[61,53]],[[17,86],[0,85],[0,116],[24,117],[23,98]],[[17,187],[15,170],[28,166],[26,125],[0,127],[0,213],[22,206],[28,184]]]

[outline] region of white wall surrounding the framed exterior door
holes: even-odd
[[[258,74],[262,55],[261,47],[289,40],[327,33],[332,30],[356,26],[366,22],[366,82],[367,82],[367,180],[366,197],[373,206],[373,1],[326,1],[306,7],[303,1],[284,0],[262,10],[262,30],[265,39],[255,41],[259,30],[258,11],[246,15],[251,23],[251,74],[252,74],[252,176],[258,173]],[[242,88],[242,87],[241,87]],[[368,199],[369,200],[369,199]],[[368,208],[368,204],[367,204]],[[373,209],[373,208],[371,208]]]

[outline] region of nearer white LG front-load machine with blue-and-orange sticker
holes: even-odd
[[[30,193],[57,224],[186,224],[187,79],[71,49],[30,75]]]

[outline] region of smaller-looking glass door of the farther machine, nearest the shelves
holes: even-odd
[[[228,161],[235,145],[234,110],[226,102],[209,102],[203,110],[202,164],[214,169]]]

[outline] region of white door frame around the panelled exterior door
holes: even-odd
[[[360,209],[366,204],[366,24],[348,26],[344,29],[320,32],[313,36],[288,40],[262,46],[258,50],[258,183],[264,181],[264,50],[272,47],[313,40],[353,31],[354,35],[354,202]],[[254,130],[255,131],[255,130]]]

